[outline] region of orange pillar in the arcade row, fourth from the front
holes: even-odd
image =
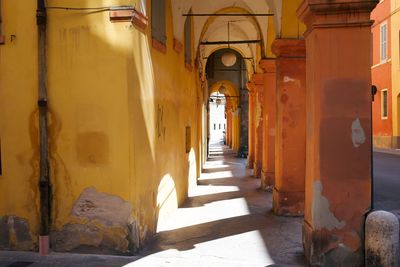
[[[254,142],[254,177],[261,178],[263,153],[263,105],[264,105],[264,77],[263,74],[253,74],[252,81],[255,88],[255,142]]]

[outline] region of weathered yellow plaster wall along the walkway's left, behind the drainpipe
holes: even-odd
[[[0,46],[0,249],[28,250],[37,246],[39,223],[36,1],[3,2],[4,32],[16,38]],[[112,23],[108,11],[48,10],[55,250],[131,253],[196,179],[201,94],[196,71],[172,49],[170,14],[168,3],[164,54],[151,47],[150,26],[143,33],[130,22]]]

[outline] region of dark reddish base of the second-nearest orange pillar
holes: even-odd
[[[304,214],[304,191],[280,192],[274,187],[272,200],[276,215],[302,216]]]

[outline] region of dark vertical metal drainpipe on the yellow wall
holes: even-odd
[[[39,254],[49,253],[50,182],[48,162],[47,88],[46,88],[46,5],[37,0],[36,24],[38,26],[38,78],[39,78],[39,146],[40,146],[40,233]]]

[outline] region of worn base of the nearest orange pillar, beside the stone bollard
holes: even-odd
[[[315,230],[304,221],[303,247],[310,266],[363,266],[361,243],[356,232]]]

